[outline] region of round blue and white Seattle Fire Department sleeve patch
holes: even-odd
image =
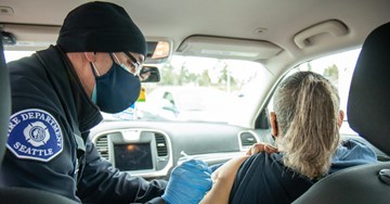
[[[63,151],[63,133],[50,113],[23,110],[10,117],[6,148],[18,158],[49,162]]]

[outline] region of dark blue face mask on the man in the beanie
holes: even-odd
[[[113,59],[113,56],[110,55]],[[140,95],[141,82],[126,67],[115,63],[110,69],[98,76],[91,63],[96,85],[92,92],[92,101],[106,113],[118,113],[132,105]]]

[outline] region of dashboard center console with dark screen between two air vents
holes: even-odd
[[[158,130],[116,130],[101,133],[92,142],[102,157],[134,176],[164,177],[173,164],[170,139]]]

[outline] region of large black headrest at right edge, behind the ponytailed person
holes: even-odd
[[[372,31],[363,43],[348,99],[353,130],[390,154],[390,23]]]

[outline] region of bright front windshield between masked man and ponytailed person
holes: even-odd
[[[5,51],[6,62],[34,51]],[[105,120],[183,120],[227,123],[237,107],[257,99],[259,81],[269,78],[260,64],[240,60],[173,55],[161,65],[159,82],[142,82],[139,100]],[[260,79],[259,79],[260,78]],[[143,95],[143,97],[141,97]]]

